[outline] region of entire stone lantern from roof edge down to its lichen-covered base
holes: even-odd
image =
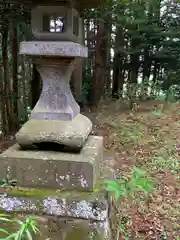
[[[63,224],[68,218],[70,232],[51,239],[73,240],[77,234],[73,224],[78,229],[86,225],[86,231],[78,232],[82,239],[111,239],[110,198],[102,183],[112,173],[103,161],[103,138],[90,135],[92,123],[80,114],[69,84],[77,58],[88,56],[80,12],[103,1],[19,0],[32,9],[34,36],[33,41],[20,43],[20,54],[33,59],[43,88],[30,119],[16,134],[17,143],[0,155],[0,176],[16,179],[22,191],[44,191],[38,198],[19,194],[19,188],[13,197],[0,196],[0,211],[41,213],[58,217]],[[47,195],[46,189],[53,194]],[[92,235],[94,230],[97,236]]]

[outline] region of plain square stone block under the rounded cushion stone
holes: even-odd
[[[23,187],[91,190],[102,158],[103,138],[97,136],[89,136],[80,153],[25,151],[16,144],[0,155],[0,176],[9,174]]]

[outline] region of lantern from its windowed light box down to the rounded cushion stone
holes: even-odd
[[[70,78],[77,58],[86,58],[82,42],[82,20],[73,2],[37,4],[31,12],[35,41],[21,42],[20,54],[31,56],[43,89],[31,112],[31,119],[16,134],[19,145],[32,148],[40,142],[54,142],[80,149],[92,130],[92,123],[80,114],[70,90]]]

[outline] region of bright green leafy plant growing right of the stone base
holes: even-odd
[[[122,197],[134,197],[136,192],[151,193],[154,185],[147,173],[137,167],[133,168],[130,179],[106,180],[105,184],[106,190],[114,193],[116,201]]]

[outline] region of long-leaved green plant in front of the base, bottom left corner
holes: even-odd
[[[0,228],[0,233],[6,235],[0,240],[32,240],[32,236],[40,233],[37,221],[33,217],[27,217],[23,222],[19,219],[10,219],[8,215],[0,214],[0,223],[11,223],[18,227],[16,232],[9,232],[5,228]]]

